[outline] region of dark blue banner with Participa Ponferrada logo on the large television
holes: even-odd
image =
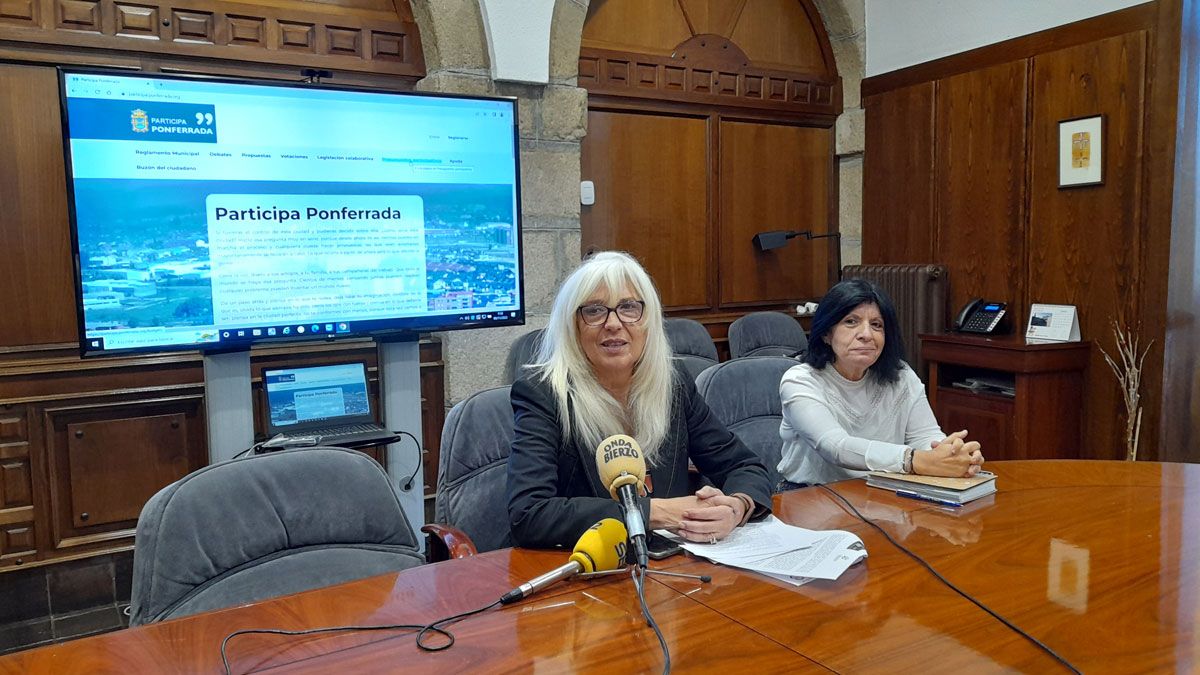
[[[205,103],[67,98],[71,137],[216,143],[216,107]]]

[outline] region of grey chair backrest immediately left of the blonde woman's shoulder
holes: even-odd
[[[479,552],[512,545],[509,530],[511,387],[484,389],[458,401],[442,428],[433,518],[470,537]]]

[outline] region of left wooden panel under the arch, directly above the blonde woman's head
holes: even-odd
[[[583,251],[635,253],[668,309],[709,300],[708,123],[704,118],[592,110],[581,175]]]

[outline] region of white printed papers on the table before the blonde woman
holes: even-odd
[[[850,532],[805,530],[775,516],[748,522],[715,544],[680,544],[713,562],[752,569],[797,586],[812,579],[836,579],[866,557],[863,540]]]

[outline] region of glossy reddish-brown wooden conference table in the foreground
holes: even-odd
[[[1200,465],[991,462],[1000,492],[947,509],[833,485],[965,592],[1084,673],[1200,668]],[[824,490],[775,513],[859,534],[869,557],[836,581],[794,587],[676,556],[655,563],[712,584],[650,578],[647,602],[673,670],[1056,673],[1066,669],[955,595]],[[1188,515],[1190,514],[1190,515]],[[241,628],[425,623],[486,605],[565,561],[503,550],[108,633],[0,658],[0,673],[214,673]],[[656,673],[661,652],[628,577],[559,584],[454,625],[444,652],[412,633],[244,635],[234,673]]]

